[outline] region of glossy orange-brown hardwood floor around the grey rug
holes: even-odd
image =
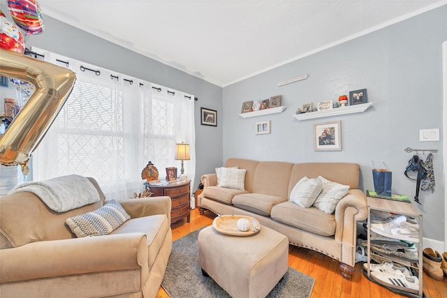
[[[215,215],[210,211],[205,212],[205,215],[200,215],[197,208],[191,210],[191,223],[186,223],[184,220],[172,225],[173,240],[175,241],[205,225],[212,225],[214,217]],[[338,261],[309,249],[292,245],[288,248],[288,266],[315,278],[311,298],[406,297],[390,292],[381,285],[369,281],[363,276],[361,264],[361,262],[356,264],[352,280],[346,280],[339,273]],[[423,291],[427,298],[446,298],[447,278],[444,277],[444,281],[436,281],[427,274],[423,274]],[[169,298],[163,288],[160,288],[156,297]]]

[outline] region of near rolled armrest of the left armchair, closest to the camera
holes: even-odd
[[[0,250],[0,283],[138,269],[148,276],[143,233],[39,241]]]

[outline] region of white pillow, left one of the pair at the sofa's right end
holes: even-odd
[[[309,208],[321,193],[321,189],[323,188],[320,179],[303,177],[293,188],[291,201],[300,207]]]

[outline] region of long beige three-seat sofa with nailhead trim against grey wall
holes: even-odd
[[[237,168],[244,173],[243,189],[222,187],[219,170]],[[356,263],[357,222],[367,218],[366,195],[359,188],[360,165],[355,163],[286,163],[229,158],[217,173],[201,177],[200,214],[252,216],[288,237],[290,244],[309,248],[339,261],[344,278],[351,278]],[[223,171],[222,170],[222,171]],[[234,171],[233,171],[234,172]],[[236,174],[233,174],[237,176]],[[314,206],[300,207],[291,192],[301,180],[323,177],[346,186],[346,195],[326,213]],[[319,178],[321,179],[321,178]],[[218,186],[219,185],[219,186]],[[349,186],[349,188],[348,188]]]

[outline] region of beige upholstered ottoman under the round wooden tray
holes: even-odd
[[[288,269],[288,238],[261,227],[230,236],[207,227],[198,234],[198,264],[233,298],[265,297]]]

